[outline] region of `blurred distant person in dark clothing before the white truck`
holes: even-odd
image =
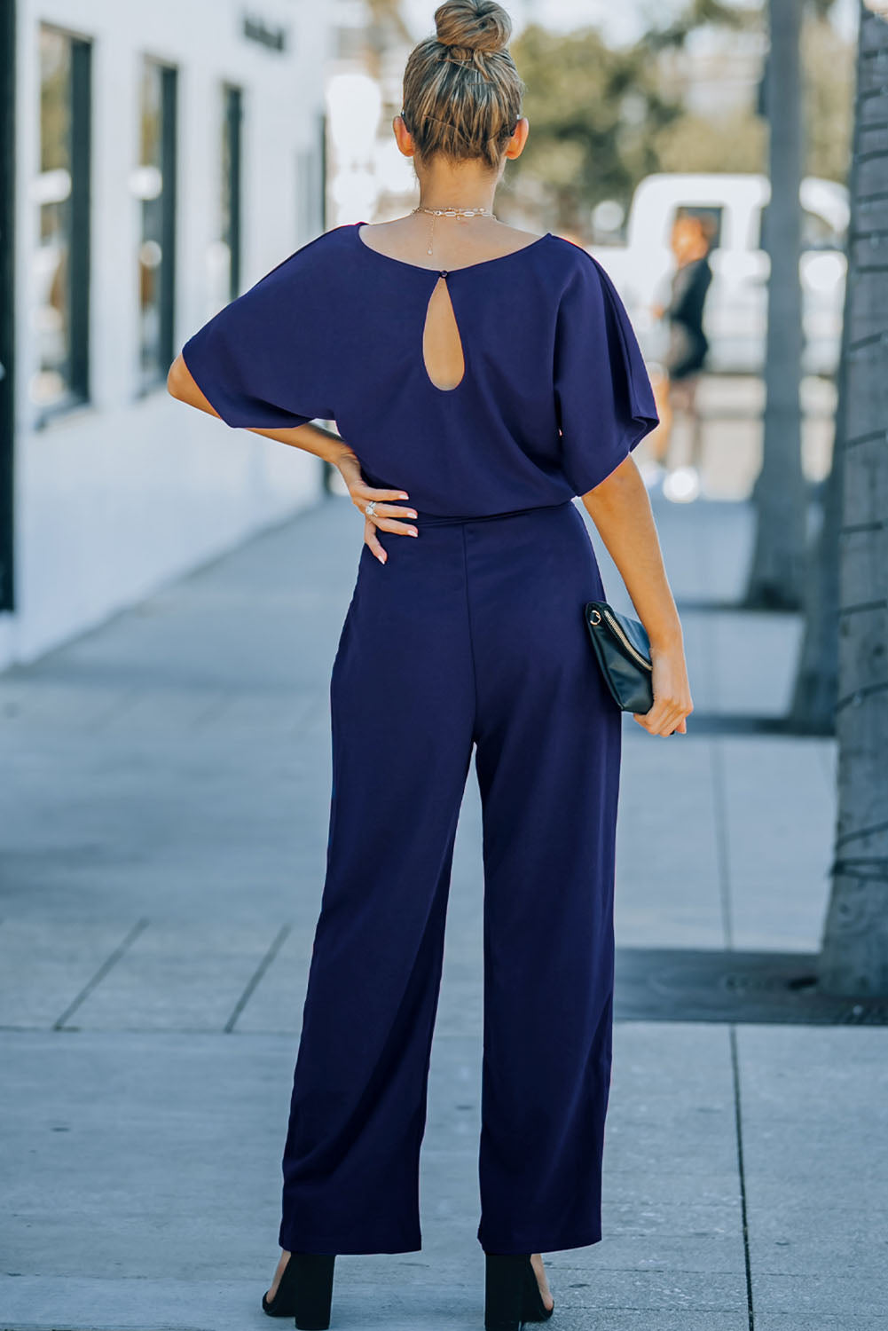
[[[667,499],[694,499],[699,494],[702,430],[696,410],[696,389],[710,349],[703,331],[706,295],[712,282],[710,250],[712,225],[707,217],[679,213],[672,224],[670,248],[675,256],[670,301],[654,305],[656,319],[667,323],[666,354],[651,366],[659,426],[648,437],[648,483],[662,482]],[[682,411],[691,431],[690,457],[684,466],[671,467],[674,413]]]

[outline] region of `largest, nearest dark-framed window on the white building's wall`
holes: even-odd
[[[44,414],[89,397],[91,45],[40,28],[40,169],[32,401]]]

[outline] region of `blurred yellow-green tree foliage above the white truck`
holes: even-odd
[[[831,0],[808,0],[805,8],[805,172],[844,181],[853,44],[839,39],[825,19],[829,8]],[[651,172],[766,170],[767,124],[756,110],[755,83],[748,108],[734,104],[703,114],[684,105],[675,84],[676,52],[702,27],[723,29],[730,60],[731,29],[766,31],[767,5],[739,9],[690,0],[667,27],[620,49],[607,47],[595,28],[554,33],[527,27],[510,49],[527,84],[523,110],[531,130],[522,156],[509,164],[505,192],[525,205],[554,204],[551,225],[583,234],[595,204],[615,198],[628,205]]]

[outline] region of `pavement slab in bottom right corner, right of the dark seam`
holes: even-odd
[[[888,1324],[884,1029],[738,1030],[756,1310]],[[849,1320],[849,1327],[856,1327]]]

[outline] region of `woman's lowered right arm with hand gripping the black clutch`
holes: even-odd
[[[651,735],[674,731],[686,735],[684,717],[694,707],[682,624],[663,567],[651,500],[635,459],[624,458],[582,499],[651,640],[654,707],[646,715],[634,713],[634,719]]]

